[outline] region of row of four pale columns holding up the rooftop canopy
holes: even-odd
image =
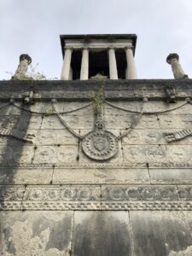
[[[89,51],[90,49],[88,48],[82,49],[80,80],[89,79]],[[73,48],[65,49],[65,56],[64,56],[62,70],[61,70],[61,80],[71,80],[73,77],[72,75],[73,71],[71,69],[72,53],[73,53]],[[125,79],[137,79],[137,69],[136,69],[132,49],[125,48],[125,55],[126,55],[126,61],[127,61],[127,68],[125,70]],[[118,68],[117,68],[117,61],[116,61],[114,48],[108,49],[108,61],[109,61],[109,78],[118,79]]]

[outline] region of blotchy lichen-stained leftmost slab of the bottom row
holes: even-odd
[[[11,221],[11,226],[9,220],[3,224],[3,230],[6,232],[0,248],[1,255],[68,255],[72,215],[63,212],[62,214],[41,212],[40,215],[30,212],[27,216],[25,221],[20,221],[18,218],[15,223]]]

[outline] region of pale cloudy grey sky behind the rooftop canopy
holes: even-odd
[[[139,79],[172,79],[171,52],[192,77],[191,0],[0,0],[0,79],[22,53],[47,78],[60,78],[59,35],[89,33],[136,33]]]

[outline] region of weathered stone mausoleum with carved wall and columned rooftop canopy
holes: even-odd
[[[0,255],[192,255],[192,80],[137,79],[136,44],[62,35],[61,80],[0,82]]]

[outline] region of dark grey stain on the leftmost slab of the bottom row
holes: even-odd
[[[72,232],[72,215],[66,214],[61,221],[55,222],[48,218],[38,218],[32,224],[32,237],[40,236],[41,232],[49,229],[49,241],[46,251],[50,248],[57,248],[62,251],[70,242]]]

